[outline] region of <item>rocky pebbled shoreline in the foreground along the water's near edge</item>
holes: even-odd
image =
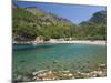
[[[36,81],[56,81],[56,80],[75,80],[75,79],[91,79],[105,77],[107,64],[99,64],[94,70],[88,71],[54,71],[54,70],[39,70],[27,72],[26,75],[18,73],[13,82],[36,82]]]

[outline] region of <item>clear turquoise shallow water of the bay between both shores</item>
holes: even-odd
[[[74,43],[13,45],[13,72],[88,70],[107,62],[107,46]]]

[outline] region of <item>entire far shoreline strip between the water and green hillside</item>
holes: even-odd
[[[13,44],[38,44],[38,43],[81,43],[81,44],[99,44],[99,45],[107,45],[105,40],[72,40],[72,41],[64,41],[64,40],[57,40],[57,39],[51,39],[50,41],[27,41],[27,42],[13,42]]]

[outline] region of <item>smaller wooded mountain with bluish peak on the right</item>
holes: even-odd
[[[98,11],[84,22],[80,23],[85,39],[105,40],[107,39],[107,11]]]

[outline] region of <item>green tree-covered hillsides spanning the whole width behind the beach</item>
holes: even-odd
[[[88,21],[74,24],[56,14],[36,8],[13,8],[12,37],[17,41],[72,38],[80,40],[105,40],[105,11],[93,13]]]

